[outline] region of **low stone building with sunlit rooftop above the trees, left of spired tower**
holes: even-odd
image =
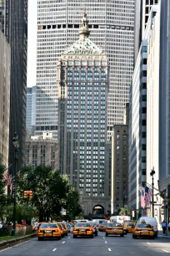
[[[58,145],[52,140],[51,132],[44,132],[42,136],[31,136],[25,144],[26,166],[52,166],[58,171]]]

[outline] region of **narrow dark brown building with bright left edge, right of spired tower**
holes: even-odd
[[[114,125],[112,134],[111,213],[128,207],[128,125]]]

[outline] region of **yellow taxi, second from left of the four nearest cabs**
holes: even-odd
[[[77,236],[88,236],[93,238],[93,228],[90,223],[76,223],[72,233],[73,238],[77,238]]]

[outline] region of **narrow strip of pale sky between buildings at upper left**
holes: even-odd
[[[28,80],[27,86],[36,85],[37,69],[37,0],[28,0]]]

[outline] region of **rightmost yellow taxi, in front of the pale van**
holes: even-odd
[[[133,228],[133,238],[150,237],[154,239],[153,227],[148,223],[137,223]]]

